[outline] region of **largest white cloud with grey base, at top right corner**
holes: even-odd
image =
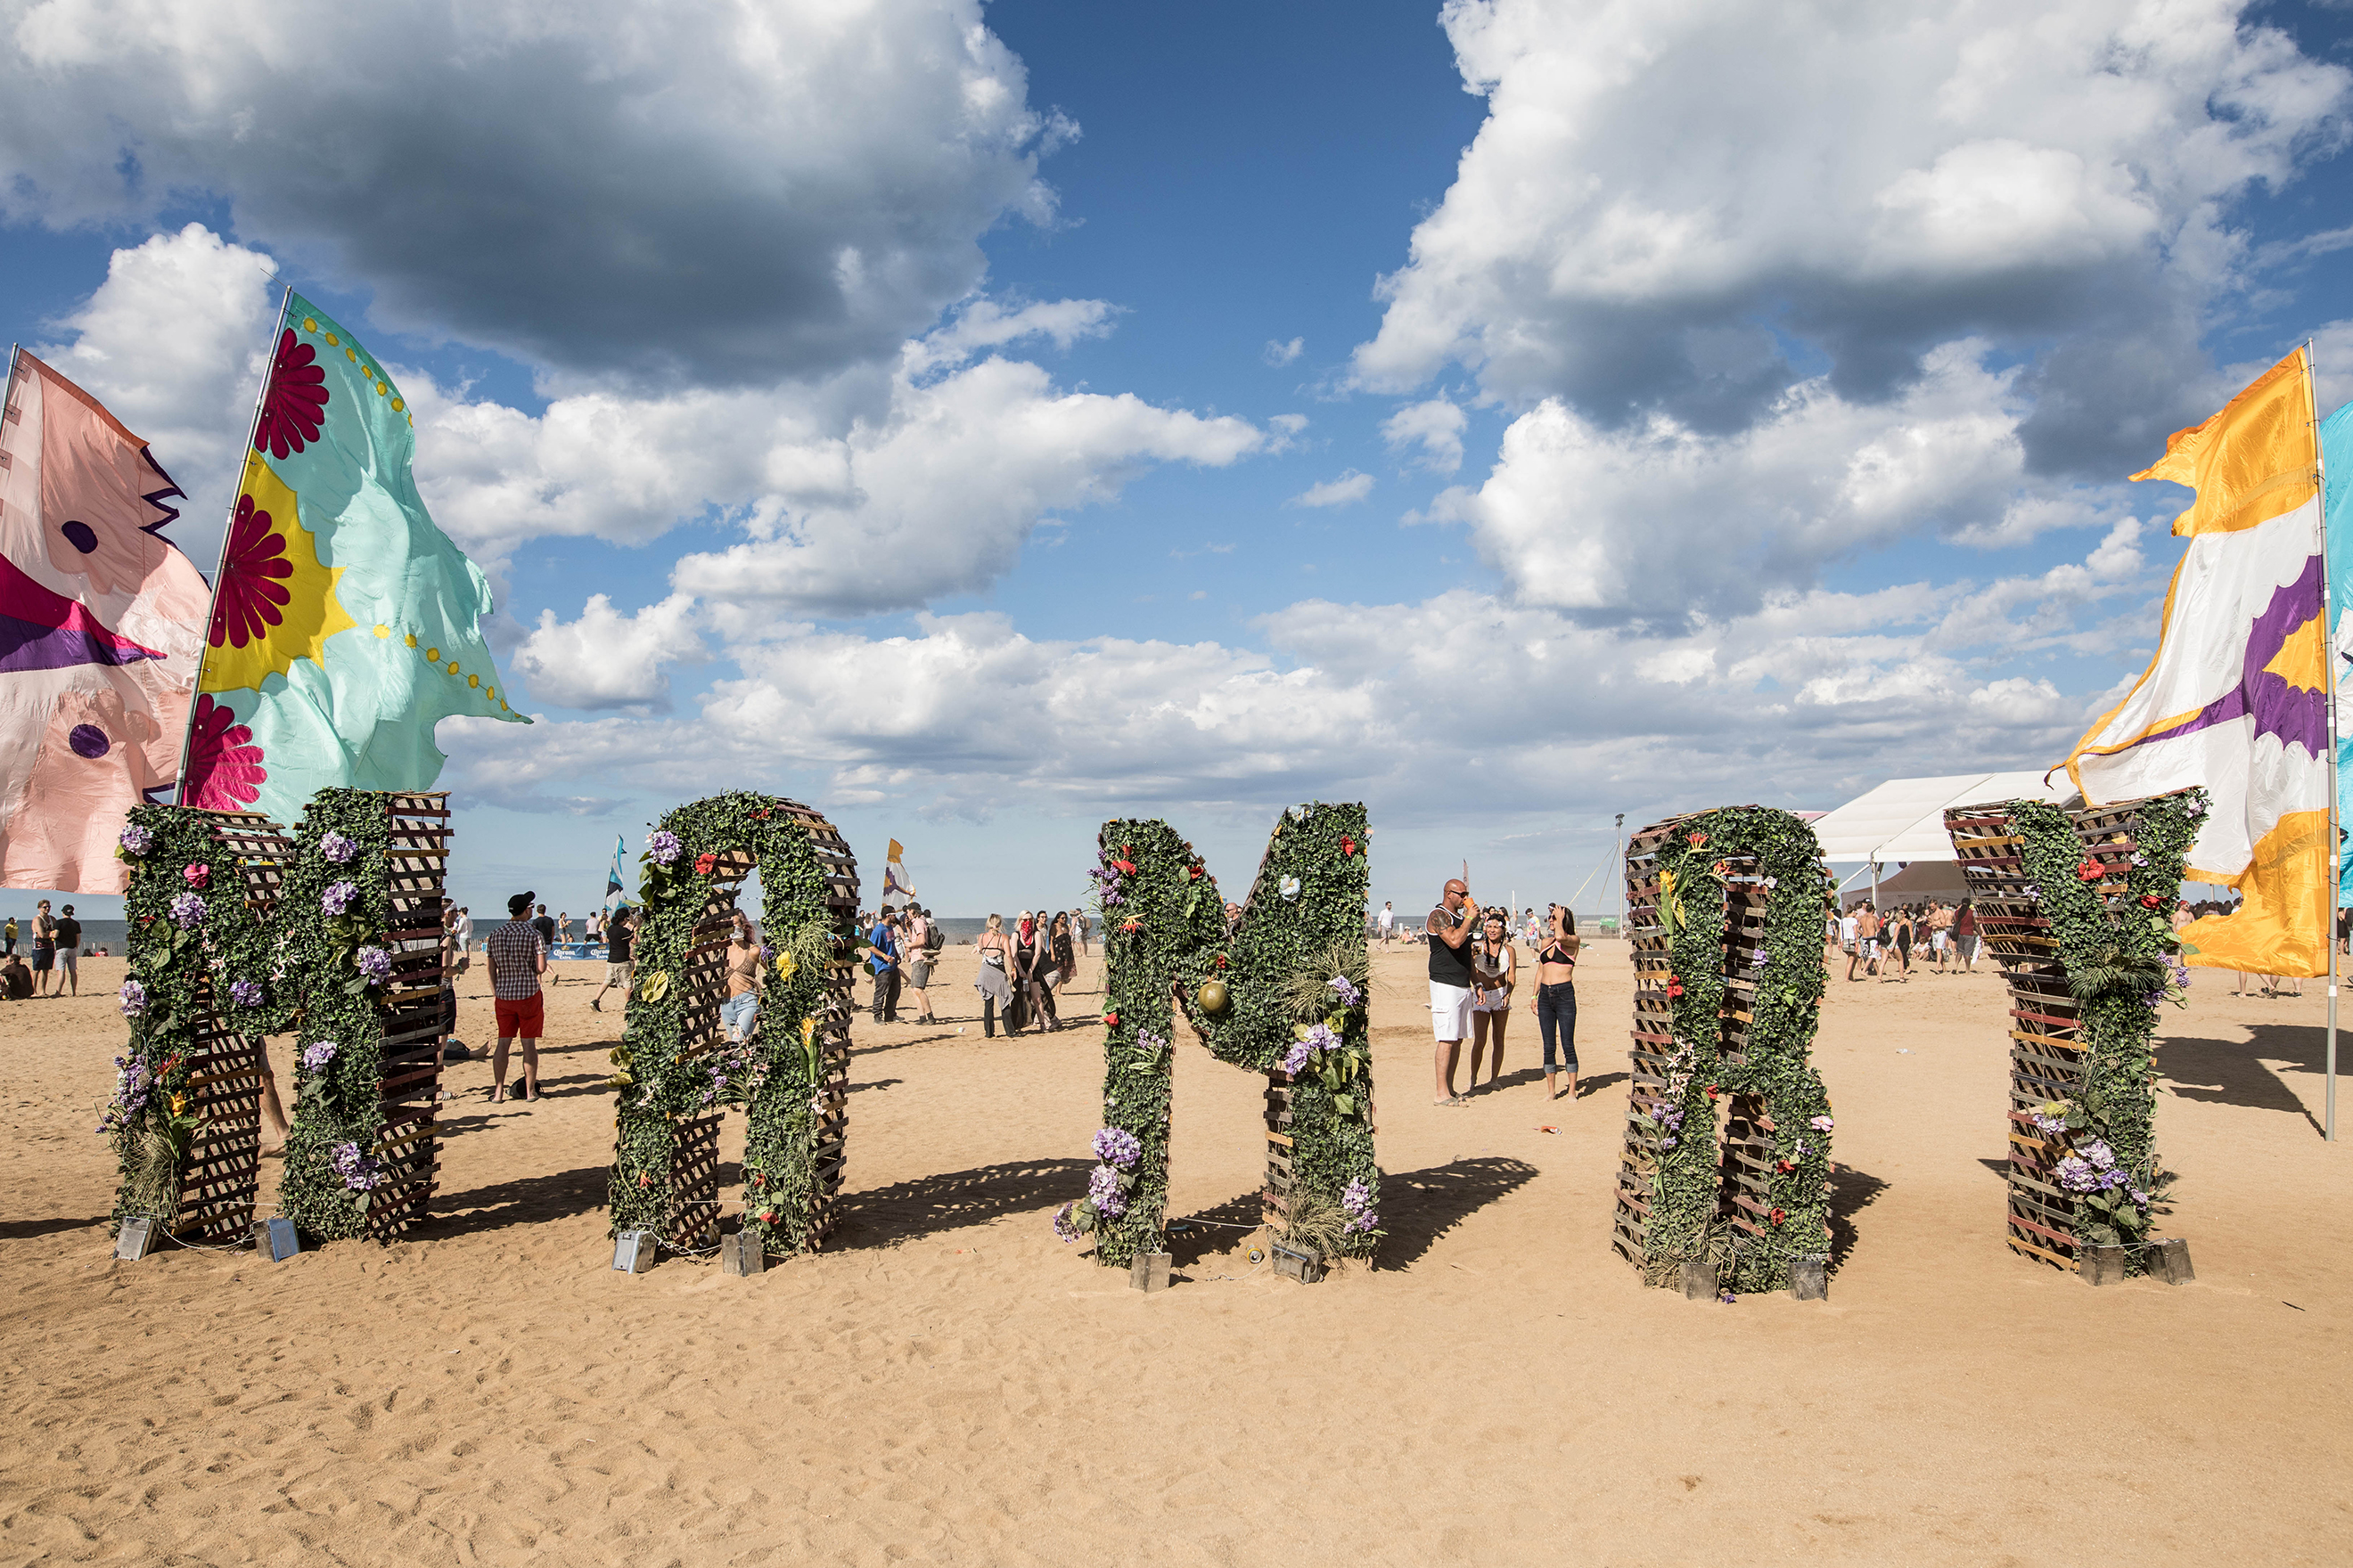
[[[2033,465],[2115,468],[2188,416],[2228,205],[2341,139],[2353,75],[2240,9],[1454,0],[1489,113],[1355,376],[1720,435],[1991,336],[2035,355]]]

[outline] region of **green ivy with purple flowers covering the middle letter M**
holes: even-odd
[[[1179,1006],[1217,1060],[1252,1072],[1280,1067],[1301,1032],[1318,1025],[1337,1037],[1337,1048],[1315,1051],[1294,1081],[1292,1190],[1332,1206],[1353,1190],[1348,1213],[1358,1225],[1339,1251],[1372,1255],[1381,1173],[1372,1150],[1369,1020],[1362,999],[1346,1006],[1337,990],[1322,990],[1332,971],[1365,978],[1367,839],[1360,804],[1285,811],[1242,922],[1228,933],[1217,879],[1176,830],[1162,820],[1104,823],[1094,872],[1106,957],[1104,1128],[1129,1133],[1139,1152],[1125,1166],[1096,1166],[1094,1180],[1118,1190],[1122,1213],[1106,1215],[1089,1197],[1056,1215],[1066,1237],[1094,1237],[1096,1262],[1127,1267],[1139,1253],[1165,1251]],[[1200,1004],[1212,980],[1226,985],[1219,1013]],[[1301,983],[1327,994],[1329,1006],[1301,1006]]]

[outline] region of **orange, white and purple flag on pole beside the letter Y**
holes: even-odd
[[[2188,877],[2235,886],[2193,922],[2191,964],[2322,976],[2329,961],[2329,642],[2320,447],[2299,348],[2134,480],[2198,491],[2158,654],[2066,769],[2089,804],[2205,785]]]

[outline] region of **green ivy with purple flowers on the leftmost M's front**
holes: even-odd
[[[146,1004],[129,1016],[129,1056],[101,1128],[122,1166],[115,1220],[167,1213],[176,1199],[179,1166],[195,1135],[188,1077],[202,1011],[212,1006],[228,1032],[296,1037],[280,1213],[313,1241],[358,1237],[367,1222],[369,1168],[365,1159],[353,1164],[348,1152],[346,1166],[336,1166],[336,1154],[351,1145],[365,1157],[384,1126],[376,1088],[384,1025],[358,952],[381,943],[391,924],[388,797],[372,790],[311,797],[294,849],[280,863],[278,905],[268,919],[245,903],[242,870],[214,842],[214,820],[191,806],[134,806],[134,832],[125,837],[144,832],[148,844],[141,853],[120,851],[129,863],[129,978],[144,987]],[[353,846],[341,863],[322,851],[329,832]],[[341,914],[327,914],[327,889],[341,882],[355,893]],[[186,896],[200,898],[202,912],[184,926],[174,900]],[[252,1004],[238,999],[240,985],[256,987]],[[318,1041],[334,1041],[334,1053],[311,1070],[301,1056]],[[127,1110],[129,1063],[158,1084],[136,1112]],[[172,1145],[169,1178],[158,1168],[158,1138]]]

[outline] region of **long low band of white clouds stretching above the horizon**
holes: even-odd
[[[696,719],[475,726],[449,750],[525,792],[814,769],[831,804],[955,818],[1007,799],[1085,816],[1369,797],[1386,820],[1459,820],[1466,757],[1492,820],[1558,816],[1567,778],[1628,811],[1807,802],[1878,783],[1889,757],[1918,773],[2054,759],[2094,698],[2014,661],[2127,651],[2118,628],[2146,632],[2158,590],[2127,522],[2042,574],[1791,592],[1657,637],[1461,590],[1292,604],[1259,625],[1266,651],[1040,639],[998,614],[918,616],[904,637],[784,625],[727,649],[739,675]],[[1546,684],[1541,708],[1492,679],[1499,656]],[[791,755],[762,741],[776,733]]]

